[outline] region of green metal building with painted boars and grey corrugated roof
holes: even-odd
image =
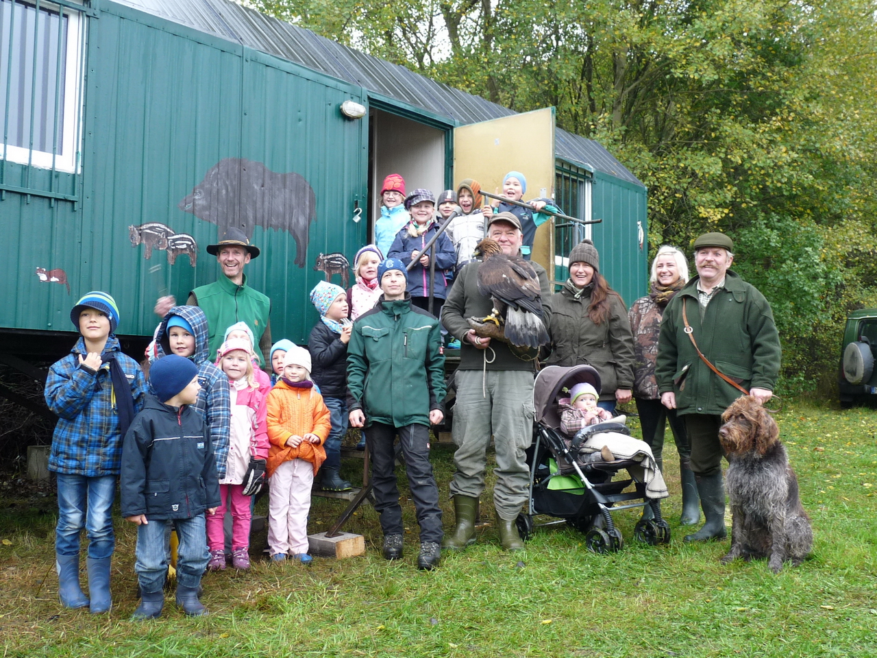
[[[383,175],[451,188],[453,131],[515,114],[226,0],[0,0],[0,46],[0,331],[34,354],[88,290],[116,297],[118,333],[151,334],[157,297],[221,275],[203,247],[228,225],[262,249],[247,283],[274,339],[302,342],[310,288],[343,283],[320,254],[369,241]],[[645,186],[594,141],[557,129],[545,147],[563,210],[602,218],[588,232],[630,304]],[[561,282],[580,230],[554,229]]]

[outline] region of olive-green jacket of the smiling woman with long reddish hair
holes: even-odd
[[[618,389],[633,388],[633,334],[624,302],[617,295],[608,297],[610,315],[602,325],[588,318],[589,292],[573,296],[568,286],[551,298],[553,352],[545,365],[570,368],[582,363],[600,373],[600,399],[614,400]]]

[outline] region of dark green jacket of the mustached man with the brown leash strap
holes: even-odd
[[[667,304],[660,325],[655,377],[659,393],[673,391],[681,414],[721,414],[739,390],[701,360],[685,333],[682,304],[697,347],[718,370],[746,390],[774,390],[780,373],[780,335],[764,295],[731,270],[701,320],[695,276]]]

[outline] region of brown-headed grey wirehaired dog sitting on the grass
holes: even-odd
[[[798,479],[774,418],[752,396],[739,397],[722,414],[719,440],[730,466],[725,476],[731,502],[731,550],[722,558],[768,558],[801,564],[813,546],[810,519],[798,497]]]

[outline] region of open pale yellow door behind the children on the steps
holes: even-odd
[[[453,130],[454,187],[474,178],[486,192],[500,194],[503,176],[520,171],[527,178],[524,201],[554,197],[554,108],[513,114]],[[532,260],[553,278],[553,222],[538,227]]]

